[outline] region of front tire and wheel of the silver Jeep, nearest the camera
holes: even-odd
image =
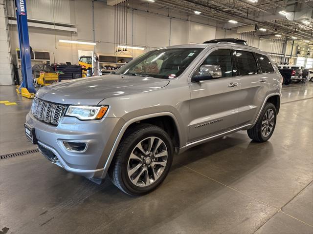
[[[159,143],[160,146],[156,147]],[[149,151],[150,145],[152,154],[143,153]],[[145,195],[156,189],[169,173],[173,152],[172,140],[163,129],[152,124],[136,125],[123,136],[109,168],[109,176],[113,184],[124,193]],[[163,153],[167,153],[167,156],[155,157]]]

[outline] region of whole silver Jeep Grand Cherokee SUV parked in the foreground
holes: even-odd
[[[173,155],[240,130],[273,134],[282,77],[267,53],[229,42],[147,52],[114,74],[41,88],[26,136],[65,170],[129,195],[155,189]]]

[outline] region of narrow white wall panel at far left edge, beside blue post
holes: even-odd
[[[4,2],[3,0],[0,0],[0,85],[12,84],[10,53]]]

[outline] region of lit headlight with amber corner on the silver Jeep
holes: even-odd
[[[76,117],[80,120],[93,120],[102,118],[109,106],[69,106],[65,116]]]

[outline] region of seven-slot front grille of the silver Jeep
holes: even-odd
[[[31,113],[39,120],[58,125],[60,118],[62,117],[65,105],[47,102],[39,98],[34,98],[31,106]]]

